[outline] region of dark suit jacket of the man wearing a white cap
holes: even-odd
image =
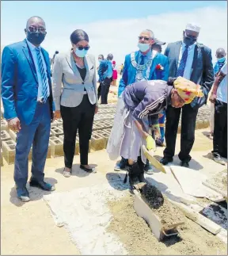
[[[167,45],[165,55],[169,59],[169,77],[177,75],[177,64],[179,60],[181,41]],[[192,108],[199,108],[207,104],[207,96],[214,82],[214,70],[212,64],[211,49],[203,44],[196,44],[192,62],[192,74],[190,80],[203,86],[203,97],[196,97],[191,105]]]

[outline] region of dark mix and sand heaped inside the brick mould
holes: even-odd
[[[161,222],[177,224],[184,221],[184,214],[180,209],[163,197],[154,185],[145,184],[140,189],[142,199],[150,206],[153,212],[159,216]]]

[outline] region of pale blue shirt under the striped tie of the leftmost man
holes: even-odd
[[[27,39],[26,39],[27,40]],[[43,96],[42,95],[42,88],[43,88],[43,80],[42,80],[42,76],[41,76],[41,73],[40,73],[40,68],[39,68],[39,63],[38,63],[38,56],[37,56],[37,53],[36,53],[36,46],[31,44],[28,40],[27,40],[27,43],[28,43],[28,47],[32,53],[32,59],[35,63],[35,67],[36,67],[36,74],[37,74],[37,78],[38,78],[38,95],[37,95],[37,101],[40,100],[40,98]],[[40,46],[39,46],[40,48]],[[41,49],[40,49],[41,51]],[[45,71],[45,74],[46,74],[46,78],[47,78],[47,66],[46,66],[46,63],[44,61],[44,56],[41,53],[41,59],[43,61],[43,66],[44,66],[44,71]],[[47,78],[47,97],[49,97],[50,95],[50,91],[49,91],[49,86],[48,86],[48,78]]]

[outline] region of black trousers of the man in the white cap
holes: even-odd
[[[193,143],[195,141],[196,116],[198,109],[192,109],[190,104],[184,105],[182,108],[181,118],[181,135],[180,135],[180,153],[178,155],[180,161],[189,162],[191,156],[189,155]],[[178,123],[180,119],[180,110],[173,108],[171,105],[166,109],[166,123],[165,123],[165,143],[164,157],[173,159],[175,154],[176,139]]]

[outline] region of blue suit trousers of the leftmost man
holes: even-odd
[[[30,124],[21,123],[21,130],[17,133],[17,145],[13,178],[17,187],[18,197],[21,197],[21,195],[26,195],[26,197],[28,197],[26,183],[28,181],[28,154],[31,150],[31,147],[31,181],[36,181],[40,183],[44,182],[44,166],[48,151],[50,129],[51,112],[50,104],[47,99],[47,102],[45,104],[37,102],[36,112],[34,114],[32,122]],[[46,185],[47,187],[49,186],[47,183]]]

